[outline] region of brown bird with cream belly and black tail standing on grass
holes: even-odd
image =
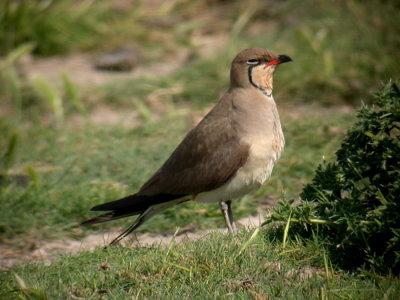
[[[232,200],[270,178],[285,145],[272,89],[275,70],[290,61],[263,48],[237,54],[228,90],[164,164],[136,193],[94,206],[106,213],[82,225],[138,215],[110,243],[115,245],[154,215],[196,201],[219,203],[228,231],[236,232]]]

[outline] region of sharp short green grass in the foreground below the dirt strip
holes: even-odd
[[[194,242],[98,248],[0,273],[4,299],[398,299],[400,281],[330,268],[317,242],[213,233]],[[277,237],[280,239],[280,237]],[[325,269],[325,266],[327,268]],[[19,281],[17,277],[19,277]]]

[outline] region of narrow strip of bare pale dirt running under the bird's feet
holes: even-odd
[[[264,221],[262,214],[258,216],[250,216],[243,218],[237,222],[239,227],[248,229],[259,226]],[[127,238],[123,241],[125,247],[148,247],[151,245],[168,245],[173,239],[175,242],[193,241],[205,237],[211,232],[221,231],[227,232],[225,228],[212,230],[194,231],[193,227],[188,226],[178,230],[174,237],[173,235],[159,235],[151,233],[143,233],[132,235],[132,238]],[[14,246],[0,244],[0,269],[8,269],[15,264],[23,264],[29,262],[38,262],[50,264],[52,260],[60,254],[77,254],[80,251],[93,250],[96,247],[108,245],[114,237],[120,232],[101,232],[92,234],[82,240],[63,239],[40,241],[35,245],[35,249],[17,250]]]

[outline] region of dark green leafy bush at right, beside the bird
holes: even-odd
[[[279,203],[267,222],[290,220],[292,233],[326,243],[342,267],[399,273],[400,90],[390,82],[375,98],[376,107],[359,109],[336,161],[318,166],[300,204]]]

